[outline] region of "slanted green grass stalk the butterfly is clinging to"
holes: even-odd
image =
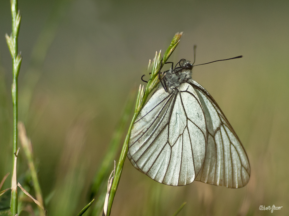
[[[166,50],[163,58],[161,58],[161,52],[159,52],[159,54],[156,52],[155,58],[153,59],[153,61],[152,62],[151,62],[151,60],[149,61],[148,71],[151,72],[151,77],[150,77],[145,89],[144,89],[144,86],[142,86],[142,87],[140,86],[139,91],[138,91],[134,116],[133,116],[131,123],[129,125],[129,129],[128,129],[127,135],[125,137],[125,141],[124,141],[123,147],[121,149],[121,154],[120,154],[117,166],[116,166],[115,176],[114,176],[114,180],[112,182],[110,197],[108,200],[107,215],[110,215],[113,199],[114,199],[117,187],[118,187],[118,183],[119,183],[120,178],[121,178],[121,173],[123,170],[123,164],[124,164],[125,158],[127,156],[128,142],[129,142],[129,137],[130,137],[130,133],[131,133],[131,128],[134,124],[134,121],[135,121],[138,113],[140,112],[142,107],[144,107],[144,104],[147,100],[147,97],[149,96],[149,94],[153,91],[153,89],[160,82],[159,77],[158,77],[159,71],[162,68],[162,66],[165,64],[165,62],[168,60],[168,58],[171,56],[172,52],[175,50],[177,45],[179,44],[181,35],[182,35],[182,32],[175,34],[175,37],[173,38],[168,49]]]

